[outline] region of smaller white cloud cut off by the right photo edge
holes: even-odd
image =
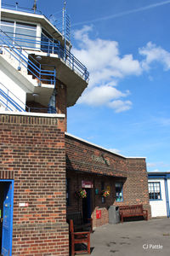
[[[170,53],[156,44],[149,42],[145,47],[139,49],[139,54],[145,57],[141,63],[144,70],[149,70],[150,65],[156,61],[161,63],[165,70],[170,69]]]

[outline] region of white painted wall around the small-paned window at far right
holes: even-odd
[[[157,179],[149,178],[148,182],[160,182],[160,184],[161,184],[161,200],[160,201],[150,201],[151,217],[167,216],[167,204],[166,204],[164,179],[163,178],[157,178]]]

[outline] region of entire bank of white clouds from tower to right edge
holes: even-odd
[[[127,111],[132,108],[133,103],[122,100],[130,92],[117,90],[115,87],[119,81],[127,76],[139,76],[144,71],[149,71],[151,64],[156,61],[165,70],[169,70],[170,53],[149,42],[139,49],[139,55],[143,55],[144,60],[134,60],[131,54],[120,54],[116,41],[90,38],[89,33],[92,31],[93,26],[83,26],[82,30],[75,32],[78,47],[73,49],[73,54],[88,67],[90,73],[88,89],[78,102],[91,106],[105,105],[113,108],[116,113]],[[149,76],[149,79],[153,78]]]

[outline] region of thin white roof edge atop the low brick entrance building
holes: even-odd
[[[94,146],[95,148],[99,148],[99,149],[105,150],[105,151],[107,151],[107,152],[109,152],[111,154],[116,154],[117,156],[120,156],[120,157],[125,158],[125,159],[146,159],[146,157],[137,157],[137,156],[133,156],[132,157],[132,156],[124,156],[122,154],[114,153],[113,151],[111,151],[111,150],[109,150],[107,148],[103,148],[103,147],[101,147],[101,146],[99,146],[97,144],[90,143],[90,142],[88,142],[88,141],[86,141],[86,140],[84,140],[84,139],[82,139],[80,137],[76,137],[76,136],[74,136],[74,135],[72,135],[71,133],[68,133],[68,132],[65,132],[65,135],[68,136],[68,137],[72,137],[72,138],[74,138],[74,139],[76,139],[76,140],[78,140],[78,141],[80,141],[82,143],[86,143],[88,145]]]

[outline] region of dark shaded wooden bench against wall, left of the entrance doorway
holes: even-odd
[[[86,222],[82,219],[82,212],[68,212],[66,213],[66,221],[70,223],[73,220],[75,231],[90,231],[93,232],[93,218],[88,218]]]

